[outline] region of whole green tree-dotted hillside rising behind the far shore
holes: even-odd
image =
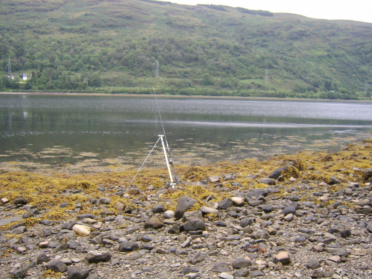
[[[1,0],[0,18],[2,91],[360,99],[372,73],[372,23],[153,0]]]

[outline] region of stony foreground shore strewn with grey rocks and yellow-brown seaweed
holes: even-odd
[[[2,171],[1,278],[372,277],[372,141],[70,176]],[[129,182],[128,182],[129,181]]]

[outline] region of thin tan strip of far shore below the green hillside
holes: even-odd
[[[154,94],[129,94],[129,93],[63,93],[63,92],[0,92],[1,95],[46,95],[46,96],[117,96],[117,97],[154,97]],[[304,101],[304,102],[345,102],[345,103],[372,103],[372,100],[344,100],[344,99],[302,99],[302,98],[278,98],[278,97],[241,97],[241,96],[208,96],[208,95],[169,95],[157,94],[157,97],[174,97],[185,99],[227,99],[227,100],[262,100],[262,101]]]

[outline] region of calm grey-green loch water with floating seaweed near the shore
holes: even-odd
[[[372,137],[372,103],[158,97],[158,104],[175,164],[334,151]],[[6,170],[139,167],[162,134],[151,96],[0,94],[0,117]],[[161,151],[148,167],[164,163]]]

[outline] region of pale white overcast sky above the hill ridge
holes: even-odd
[[[295,13],[318,19],[349,19],[372,23],[371,0],[169,0],[173,3],[196,5],[216,4],[268,10],[273,13]]]

